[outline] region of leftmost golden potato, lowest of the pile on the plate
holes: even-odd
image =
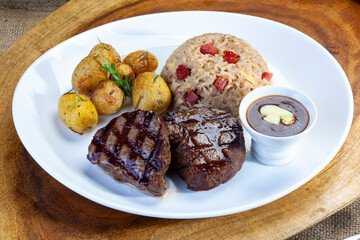
[[[86,133],[94,129],[98,122],[98,114],[90,99],[76,93],[62,95],[58,103],[61,121],[72,131]]]

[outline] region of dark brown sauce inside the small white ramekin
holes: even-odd
[[[290,111],[294,115],[295,121],[291,125],[284,125],[281,122],[279,125],[276,125],[263,120],[264,116],[260,113],[260,108],[265,105],[276,105]],[[273,137],[287,137],[301,133],[306,129],[309,124],[309,113],[295,99],[271,95],[260,98],[250,104],[246,113],[246,119],[249,125],[259,133]]]

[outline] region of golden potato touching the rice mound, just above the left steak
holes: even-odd
[[[171,103],[170,89],[161,76],[157,78],[156,76],[158,76],[156,73],[145,72],[135,78],[132,102],[137,109],[161,113],[169,107]]]

